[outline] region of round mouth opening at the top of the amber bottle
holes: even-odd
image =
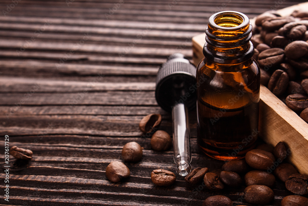
[[[241,15],[234,13],[222,13],[215,17],[214,23],[220,27],[237,27],[244,22]]]

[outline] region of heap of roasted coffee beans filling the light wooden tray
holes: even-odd
[[[308,12],[257,16],[251,42],[261,84],[308,123]]]

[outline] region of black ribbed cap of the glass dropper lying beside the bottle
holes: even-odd
[[[171,112],[176,103],[184,103],[188,110],[196,107],[196,67],[180,53],[172,54],[159,69],[155,97],[158,105]]]

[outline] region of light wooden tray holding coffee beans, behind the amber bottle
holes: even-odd
[[[277,12],[287,16],[294,10],[303,9],[308,11],[308,2]],[[254,24],[254,19],[251,22]],[[204,57],[204,44],[205,33],[193,37],[193,61],[196,66]],[[290,148],[289,161],[300,173],[308,175],[308,124],[263,85],[260,92],[259,130],[260,137],[268,144],[275,146],[283,141]]]

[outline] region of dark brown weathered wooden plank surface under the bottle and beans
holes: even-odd
[[[300,2],[286,0],[277,9]],[[244,186],[217,193],[177,175],[174,185],[156,187],[150,173],[175,172],[173,152],[153,151],[138,123],[160,113],[160,128],[171,134],[171,115],[154,97],[156,73],[172,53],[192,60],[191,39],[210,15],[235,10],[253,18],[275,1],[22,0],[3,13],[11,4],[0,2],[0,145],[9,135],[10,147],[34,154],[28,168],[11,171],[10,201],[0,205],[202,205],[216,194],[242,202]],[[192,166],[219,170],[224,162],[197,147],[195,114]],[[129,179],[111,183],[105,169],[121,161],[130,141],[144,147],[143,158],[126,163]],[[0,155],[4,162],[4,149]],[[272,205],[290,194],[279,182],[274,193]]]

